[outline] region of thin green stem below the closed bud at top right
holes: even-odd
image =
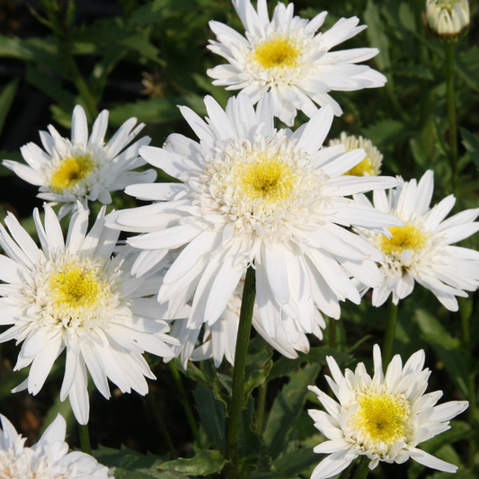
[[[448,120],[449,120],[449,163],[451,168],[452,192],[457,196],[457,121],[456,100],[454,90],[454,49],[453,41],[444,43],[445,60],[444,73],[446,75],[446,87],[448,91]]]

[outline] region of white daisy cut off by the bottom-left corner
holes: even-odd
[[[67,423],[58,414],[31,448],[13,424],[0,414],[0,477],[4,479],[107,479],[108,467],[83,452],[68,452]]]

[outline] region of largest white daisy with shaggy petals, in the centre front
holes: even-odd
[[[314,333],[316,306],[338,318],[340,300],[359,303],[350,277],[369,285],[381,280],[375,263],[381,253],[342,226],[401,224],[344,196],[396,180],[342,176],[365,154],[343,154],[342,145],[320,149],[333,121],[329,106],[293,133],[273,128],[271,95],[256,111],[244,94],[231,98],[226,111],[211,97],[205,103],[207,122],[182,107],[200,143],[173,134],[163,148],[140,150],[148,163],[182,183],[128,187],[129,194],[156,202],[115,212],[108,224],[145,233],[128,240],[143,250],[133,268],[139,276],[184,246],[158,300],[180,295],[184,304],[192,297],[189,329],[217,322],[253,264],[266,333],[277,338],[283,314],[300,332]]]

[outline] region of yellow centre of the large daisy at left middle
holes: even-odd
[[[93,307],[105,286],[94,271],[72,264],[53,273],[49,279],[53,304],[75,311]]]

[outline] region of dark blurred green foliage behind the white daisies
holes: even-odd
[[[269,2],[271,11],[275,4]],[[410,180],[433,169],[436,183],[433,202],[436,202],[451,193],[444,48],[426,29],[424,8],[424,0],[295,2],[296,13],[305,18],[328,10],[324,28],[331,27],[341,17],[359,16],[361,23],[368,24],[368,29],[341,48],[368,46],[381,51],[369,65],[387,76],[386,87],[334,92],[333,97],[342,105],[344,114],[333,122],[331,137],[339,136],[342,130],[368,137],[384,154],[383,174],[401,174]],[[478,206],[478,10],[477,2],[471,2],[472,25],[457,42],[454,66],[460,125],[457,209]],[[203,115],[206,112],[202,101],[205,94],[212,94],[223,105],[231,94],[213,86],[206,75],[209,67],[222,61],[207,49],[208,40],[212,38],[208,21],[212,19],[243,32],[228,0],[1,0],[2,158],[22,161],[19,148],[29,141],[40,143],[38,131],[46,129],[50,123],[68,136],[71,114],[77,103],[84,106],[90,123],[99,111],[108,109],[111,131],[130,117],[137,117],[146,123],[144,133],[152,137],[154,146],[162,146],[172,132],[192,136],[177,105],[188,105]],[[297,125],[303,121],[306,118],[300,114]],[[6,210],[13,211],[31,233],[31,209],[40,206],[36,193],[35,187],[0,166],[0,216],[4,217]],[[130,202],[131,199],[118,192],[116,208]],[[476,248],[477,235],[464,244]],[[428,366],[434,369],[430,390],[444,389],[445,400],[468,398],[475,401],[475,375],[479,364],[478,302],[477,293],[461,299],[460,314],[451,314],[439,306],[429,291],[415,288],[412,296],[401,304],[395,352],[402,353],[405,358],[425,348]],[[346,304],[338,323],[341,354],[335,353],[336,358],[343,365],[353,364],[351,354],[370,361],[372,344],[382,341],[385,318],[385,309],[373,308],[368,297],[360,306]],[[469,339],[461,333],[461,320],[471,324]],[[250,366],[252,371],[264,373],[271,369],[267,365],[272,352],[261,340],[256,341],[258,350]],[[313,341],[312,344],[312,353],[297,360],[272,356],[274,386],[268,389],[267,395],[271,412],[265,419],[261,441],[254,434],[255,439],[248,439],[256,449],[254,460],[262,463],[254,473],[258,479],[297,477],[305,470],[307,476],[307,471],[320,458],[309,449],[297,449],[298,444],[311,448],[318,442],[313,436],[317,431],[306,417],[303,405],[306,386],[315,382],[328,350],[324,342]],[[42,423],[48,424],[58,411],[67,415],[71,423],[68,405],[55,399],[63,366],[57,363],[47,386],[38,396],[11,395],[10,389],[19,384],[26,373],[12,373],[16,347],[11,343],[0,347],[0,411],[30,439],[38,437]],[[176,385],[166,365],[154,362],[153,367],[158,381],[151,386],[160,410],[170,423],[178,453],[191,456],[191,450],[194,452],[191,432],[175,397]],[[198,400],[195,413],[201,423],[200,434],[209,438],[207,446],[221,449],[224,424],[215,425],[212,421],[223,414],[218,399],[221,399],[222,389],[227,390],[222,375],[228,372],[228,366],[222,365],[218,371],[213,371],[208,361],[192,365],[187,373],[187,386],[192,386],[193,381],[199,384],[193,387],[192,394],[188,394]],[[261,377],[260,373],[258,375]],[[206,386],[208,381],[216,381],[215,394]],[[298,390],[302,392],[295,393]],[[141,453],[146,450],[165,453],[166,448],[157,439],[154,421],[141,398],[120,395],[120,391],[113,391],[113,398],[108,403],[97,393],[92,397],[93,445],[102,443],[119,448],[123,443]],[[312,395],[307,398],[313,400]],[[281,401],[291,406],[289,412],[279,406]],[[479,475],[477,456],[471,446],[474,441],[478,442],[476,411],[473,407],[466,419],[456,421],[454,433],[430,441],[428,450],[462,465],[457,479]],[[473,442],[466,442],[471,438]],[[75,430],[70,439],[75,445]],[[451,443],[457,440],[460,440],[459,447],[453,448]],[[129,450],[122,458],[109,449],[102,449],[99,454],[101,459],[110,457],[105,460],[111,460],[119,471],[122,468],[125,477],[134,478],[140,476],[129,475],[130,469],[137,469],[138,464],[151,469],[157,463],[156,459],[137,456],[135,450]],[[302,452],[297,453],[297,450]],[[128,464],[125,457],[129,457]],[[264,472],[271,471],[271,464],[278,468],[277,471],[287,472],[274,475]],[[405,477],[405,470],[406,466],[386,465],[378,469],[376,475]],[[175,474],[145,477],[166,479],[176,477]],[[434,479],[445,477],[430,470],[426,473],[419,465],[407,467],[410,479],[425,475]],[[123,477],[120,473],[117,476]]]

